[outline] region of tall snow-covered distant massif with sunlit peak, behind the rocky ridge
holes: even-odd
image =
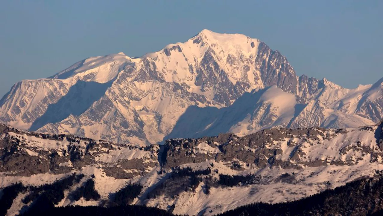
[[[382,83],[346,89],[298,77],[264,42],[204,29],[142,57],[91,57],[22,80],[0,100],[0,121],[141,146],[277,126],[359,127],[383,117]]]

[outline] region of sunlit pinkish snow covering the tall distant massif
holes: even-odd
[[[94,139],[108,138],[116,142],[141,146],[161,143],[170,133],[178,130],[175,126],[189,107],[206,109],[231,107],[214,101],[218,96],[215,87],[202,89],[202,86],[195,84],[197,70],[204,75],[209,72],[201,65],[206,55],[211,55],[216,62],[210,67],[218,66],[233,84],[238,81],[249,84],[247,92],[267,87],[254,64],[259,44],[258,39],[243,34],[223,34],[203,29],[185,42],[168,44],[164,49],[142,57],[131,58],[123,52],[90,57],[50,78],[23,80],[17,83],[0,107],[0,119],[7,119],[5,123],[14,127],[26,130],[38,129],[31,128],[32,122],[41,117],[49,105],[56,104],[62,99],[79,80],[107,83],[108,88],[101,98],[97,98],[98,100],[90,107],[81,107],[86,110],[84,113],[70,114],[59,122],[46,123],[39,132],[74,133]],[[245,70],[245,67],[249,70]],[[152,76],[151,73],[158,75],[160,80],[154,76],[141,77]],[[298,77],[296,79],[299,80]],[[300,98],[303,101],[302,104],[298,104],[302,106],[301,109],[299,106],[299,109],[294,107],[297,101],[293,99],[293,94],[285,93],[275,86],[267,87],[264,95],[256,99],[257,103],[254,103],[254,107],[249,107],[247,113],[238,114],[235,110],[231,110],[230,115],[222,117],[231,119],[224,121],[228,123],[228,127],[222,124],[217,126],[219,123],[216,118],[210,121],[210,115],[217,116],[206,111],[209,113],[207,116],[209,122],[203,125],[203,128],[199,128],[198,134],[217,135],[216,132],[234,132],[237,135],[246,135],[275,126],[370,125],[376,121],[372,120],[373,116],[378,118],[375,112],[378,114],[381,112],[379,102],[382,98],[382,79],[374,85],[360,85],[355,89],[346,89],[323,78],[319,81],[320,89],[316,93],[307,98]],[[180,92],[174,88],[176,84],[186,86],[187,92]],[[97,90],[90,88],[79,94],[87,98],[90,92]],[[201,98],[201,101],[196,101],[194,96]],[[104,110],[103,104],[106,100],[111,101],[113,106]],[[235,99],[230,100],[233,104],[236,102]],[[370,103],[376,104],[377,108],[360,108],[363,104],[370,107]],[[101,114],[99,110],[103,110],[102,120],[92,120],[93,113]],[[116,120],[126,120],[129,123],[129,130],[134,131],[132,135],[128,137],[126,131],[113,129],[113,126],[116,127],[113,125]],[[205,123],[204,120],[200,120],[201,124]],[[142,124],[139,123],[141,121]],[[144,135],[137,135],[142,132]],[[192,132],[186,134],[189,137],[195,135]]]

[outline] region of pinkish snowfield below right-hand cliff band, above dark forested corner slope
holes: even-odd
[[[204,164],[208,164],[205,162]],[[185,164],[186,166],[187,164]],[[197,166],[194,164],[194,166]],[[202,165],[203,167],[204,165]],[[209,166],[209,165],[206,165]],[[193,167],[193,166],[191,166]],[[233,172],[222,163],[214,163],[214,168],[223,174],[239,174]],[[363,175],[371,175],[373,169],[382,169],[381,164],[363,163],[360,166],[321,166],[310,167],[303,170],[294,169],[264,169],[259,172],[265,178],[269,178],[269,184],[255,184],[241,187],[229,188],[210,188],[210,194],[203,193],[201,183],[198,185],[196,192],[181,192],[174,199],[169,197],[158,197],[151,199],[147,203],[148,206],[155,206],[158,208],[166,209],[168,205],[175,204],[174,214],[188,214],[195,215],[196,213],[206,210],[204,215],[214,215],[227,211],[238,206],[246,205],[255,202],[279,203],[285,201],[293,201],[301,197],[313,195],[321,192],[327,188],[334,188],[344,185],[346,182],[357,179]],[[193,167],[195,169],[195,167]],[[229,171],[229,172],[226,172]],[[256,172],[255,170],[252,173]],[[282,173],[295,172],[298,184],[288,184],[278,181],[277,179]],[[313,177],[308,177],[314,173]],[[328,186],[326,182],[331,182]],[[223,198],[224,197],[224,198]],[[212,210],[212,213],[210,213]]]

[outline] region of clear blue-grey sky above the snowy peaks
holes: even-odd
[[[383,76],[382,0],[5,0],[0,94],[90,56],[141,56],[204,28],[264,41],[297,75],[346,88]]]

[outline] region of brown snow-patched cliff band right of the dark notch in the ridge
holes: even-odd
[[[357,130],[344,129],[266,129],[250,135],[238,137],[234,134],[221,134],[216,137],[198,139],[175,139],[165,143],[165,167],[200,163],[206,160],[241,161],[259,168],[280,167],[282,169],[304,169],[318,166],[355,165],[367,155],[371,162],[383,158],[380,142],[383,140],[382,125],[360,127]],[[363,143],[347,137],[375,132],[376,144],[372,138]],[[334,143],[339,138],[343,143]],[[345,140],[346,139],[346,140]],[[331,148],[332,155],[321,155]],[[317,153],[319,152],[319,153]],[[366,159],[366,158],[364,158]]]

